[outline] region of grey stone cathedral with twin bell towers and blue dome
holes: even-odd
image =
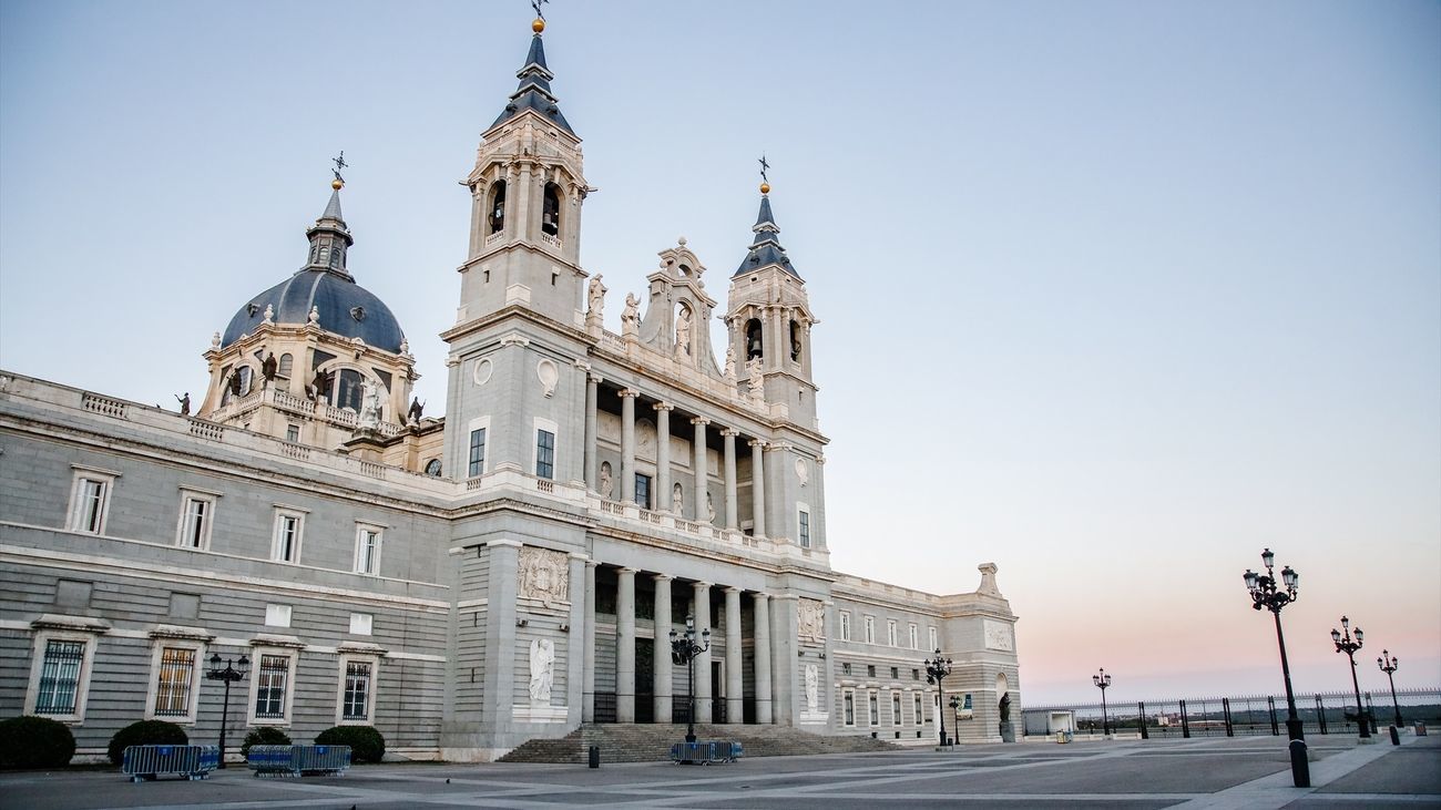
[[[193,411],[0,372],[0,716],[62,721],[81,757],[141,719],[213,739],[222,686],[232,757],[249,728],[354,724],[399,758],[490,761],[692,705],[909,745],[1009,736],[994,565],[948,595],[830,565],[823,330],[769,184],[723,303],[684,239],[611,294],[581,265],[594,189],[532,27],[464,180],[442,415],[347,270],[343,161],[300,270],[210,339]],[[687,626],[709,638],[693,686],[670,643]],[[206,677],[242,656],[241,682]]]

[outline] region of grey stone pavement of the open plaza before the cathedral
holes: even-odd
[[[112,771],[0,774],[0,809],[305,807],[411,810],[501,807],[1151,807],[1344,810],[1441,807],[1441,736],[1401,748],[1320,736],[1310,790],[1290,787],[1281,738],[1110,741],[961,747],[742,760],[733,765],[369,765],[342,777],[131,784]]]

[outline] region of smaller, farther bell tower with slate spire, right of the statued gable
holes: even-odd
[[[765,167],[762,159],[762,180]],[[761,183],[761,210],[751,231],[755,239],[731,277],[725,317],[736,376],[742,385],[759,378],[765,402],[782,405],[793,424],[814,430],[810,334],[820,321],[811,314],[806,281],[781,246],[769,182]]]

